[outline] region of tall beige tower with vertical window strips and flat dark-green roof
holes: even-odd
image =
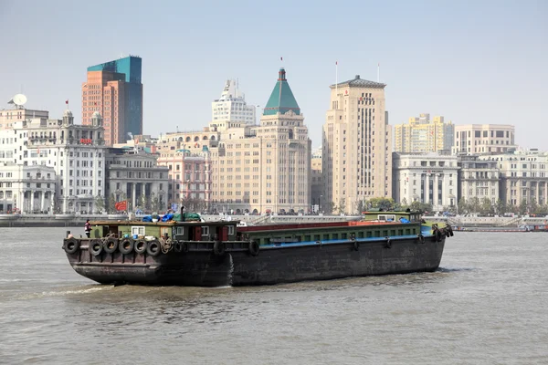
[[[332,85],[323,125],[322,207],[355,213],[358,202],[392,195],[392,130],[385,84],[356,75]]]

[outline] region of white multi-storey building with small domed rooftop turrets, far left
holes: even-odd
[[[91,213],[104,197],[105,146],[99,113],[92,125],[74,125],[70,110],[62,120],[23,120],[0,130],[0,162],[53,167],[58,184],[55,213]]]

